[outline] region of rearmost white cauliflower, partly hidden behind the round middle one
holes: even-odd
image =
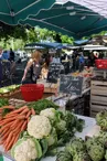
[[[45,116],[50,119],[54,119],[55,118],[55,109],[54,108],[46,108],[44,110],[41,110],[40,115]]]

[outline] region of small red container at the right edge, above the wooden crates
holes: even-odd
[[[107,69],[107,60],[96,60],[96,67],[100,69]]]

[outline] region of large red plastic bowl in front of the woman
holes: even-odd
[[[25,101],[35,101],[43,97],[43,84],[25,84],[20,87],[22,97]]]

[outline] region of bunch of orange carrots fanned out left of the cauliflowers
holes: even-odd
[[[18,141],[20,133],[26,129],[30,117],[35,115],[35,111],[33,108],[29,109],[28,106],[19,109],[13,106],[4,106],[0,108],[0,112],[3,109],[11,109],[11,111],[0,120],[0,144],[3,144],[4,150],[9,151]]]

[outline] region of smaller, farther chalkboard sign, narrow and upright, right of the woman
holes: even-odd
[[[56,84],[57,78],[60,77],[60,72],[61,72],[61,64],[51,63],[49,67],[47,82]]]

